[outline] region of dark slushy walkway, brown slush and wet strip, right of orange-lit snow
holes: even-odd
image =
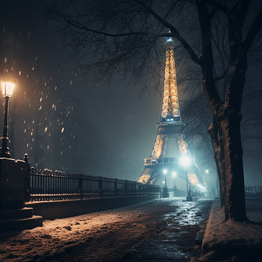
[[[90,230],[85,239],[69,245],[50,260],[189,261],[195,238],[209,217],[214,198],[194,202],[184,202],[184,199],[163,198],[89,214],[103,216],[112,212],[120,220]]]

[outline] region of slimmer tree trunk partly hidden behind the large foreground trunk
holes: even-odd
[[[226,195],[226,170],[225,170],[225,155],[223,137],[221,135],[221,128],[216,122],[213,115],[212,123],[209,126],[208,133],[210,134],[212,146],[214,150],[214,158],[217,167],[217,174],[220,184],[221,208],[225,206]]]

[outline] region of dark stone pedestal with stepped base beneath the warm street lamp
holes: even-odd
[[[43,218],[24,208],[26,162],[0,158],[0,233],[42,226]]]

